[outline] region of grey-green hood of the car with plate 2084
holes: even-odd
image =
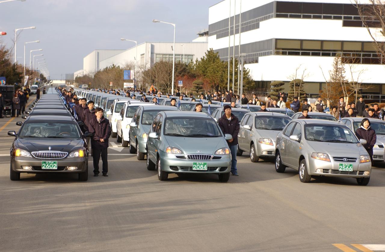
[[[178,136],[165,136],[171,147],[183,151],[184,154],[211,154],[221,148],[228,147],[223,137],[219,138],[188,138]]]

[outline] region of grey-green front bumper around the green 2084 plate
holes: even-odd
[[[162,171],[171,173],[211,173],[220,174],[227,173],[231,170],[231,155],[224,155],[218,160],[190,160],[179,159],[173,154],[161,155],[161,169]],[[207,171],[193,171],[193,162],[207,162]]]

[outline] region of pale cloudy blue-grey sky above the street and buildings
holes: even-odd
[[[1,2],[2,0],[0,0]],[[51,79],[65,78],[83,68],[83,58],[95,49],[127,49],[135,45],[120,38],[145,41],[172,41],[173,27],[152,23],[153,19],[176,24],[176,42],[189,42],[198,31],[208,28],[209,7],[220,0],[26,0],[0,3],[0,44],[13,47],[17,38],[17,60],[26,65],[30,50],[45,58]],[[44,60],[39,60],[44,61]]]

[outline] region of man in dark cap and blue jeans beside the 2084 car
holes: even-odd
[[[224,115],[219,118],[218,124],[223,134],[230,134],[233,136],[231,140],[227,141],[231,152],[231,174],[238,176],[237,172],[237,151],[238,151],[238,133],[239,120],[233,113],[231,113],[231,106],[223,106]]]

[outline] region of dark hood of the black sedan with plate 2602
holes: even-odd
[[[76,138],[18,138],[15,145],[29,152],[48,151],[49,147],[51,151],[70,152],[82,148],[84,142]]]

